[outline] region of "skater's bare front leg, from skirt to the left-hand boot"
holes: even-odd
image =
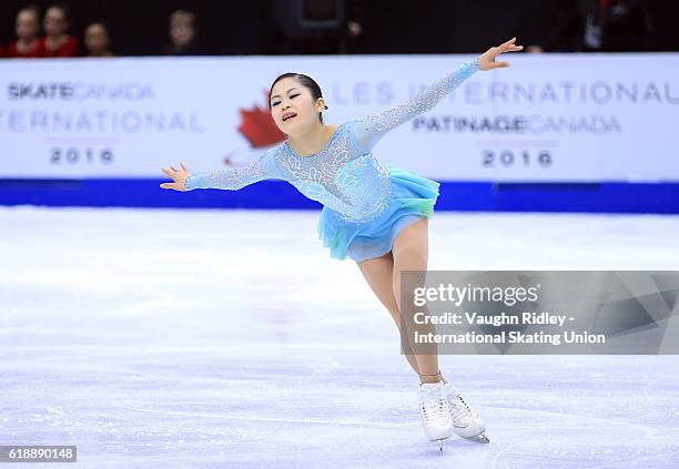
[[[411,223],[401,231],[394,246],[392,254],[394,256],[394,272],[393,272],[393,290],[398,310],[402,312],[401,307],[401,273],[403,271],[419,271],[423,272],[420,282],[424,286],[424,273],[427,269],[427,257],[428,257],[428,220],[423,217],[417,222]],[[412,324],[412,318],[406,318]],[[415,359],[417,360],[417,367],[420,370],[420,379],[423,383],[438,381],[438,350],[434,347],[435,353],[430,355],[416,354]]]

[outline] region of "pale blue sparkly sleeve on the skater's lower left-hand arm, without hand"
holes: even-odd
[[[194,188],[223,188],[237,191],[246,185],[267,179],[280,179],[273,155],[276,149],[264,153],[250,166],[225,167],[206,173],[192,174],[184,185],[188,191]]]

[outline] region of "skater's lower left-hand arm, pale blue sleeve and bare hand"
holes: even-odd
[[[237,191],[257,181],[280,177],[273,161],[273,150],[264,153],[250,166],[224,167],[205,173],[191,174],[182,163],[182,170],[162,169],[161,171],[173,179],[172,183],[163,183],[162,188],[175,191],[192,191],[194,188],[223,188]]]

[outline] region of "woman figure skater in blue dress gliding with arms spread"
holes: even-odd
[[[285,142],[252,165],[192,174],[170,166],[162,172],[173,182],[162,188],[235,191],[265,179],[290,182],[308,198],[323,204],[318,236],[331,257],[357,263],[379,302],[401,329],[401,273],[424,272],[428,256],[428,218],[439,184],[413,172],[383,165],[372,153],[387,132],[432,110],[445,95],[478,70],[509,67],[496,62],[504,52],[523,49],[516,38],[488,49],[473,61],[428,85],[408,101],[374,115],[341,125],[323,123],[325,100],[316,82],[300,73],[280,75],[270,92],[271,114]],[[442,441],[459,437],[488,442],[478,412],[443,377],[438,356],[405,354],[419,376],[418,401],[425,435]]]

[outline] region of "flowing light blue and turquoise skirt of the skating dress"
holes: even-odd
[[[321,211],[318,238],[331,249],[331,257],[361,262],[383,256],[392,251],[394,239],[406,225],[434,214],[439,183],[388,163],[385,167],[392,181],[392,196],[375,220],[351,223],[331,208]]]

